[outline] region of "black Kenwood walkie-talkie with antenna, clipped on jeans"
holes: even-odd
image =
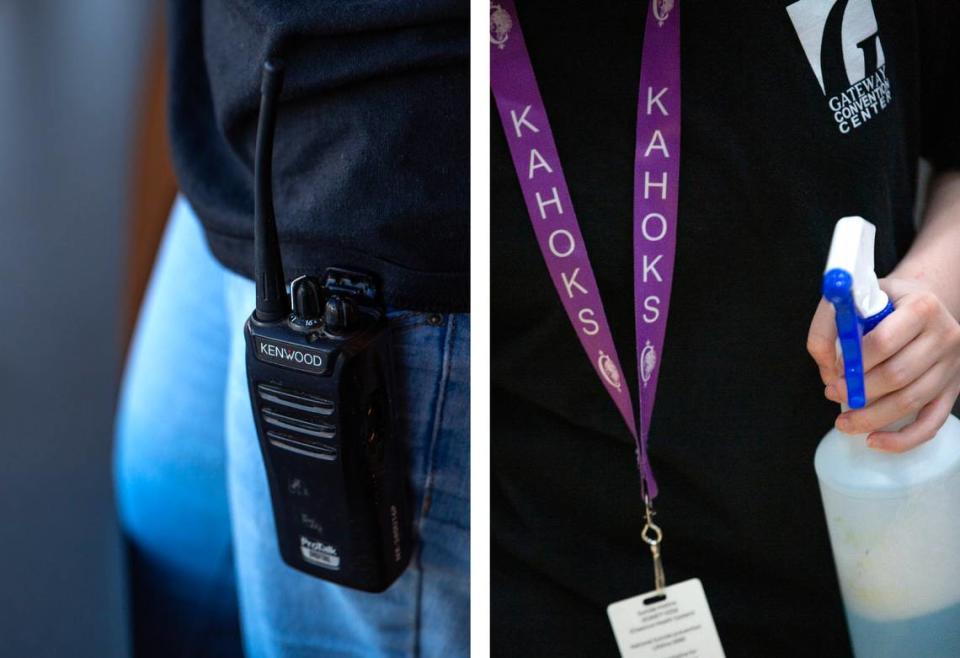
[[[282,86],[282,64],[268,60],[254,164],[257,305],[244,327],[277,539],[291,567],[382,592],[412,545],[390,331],[367,274],[301,276],[287,296],[271,180]]]

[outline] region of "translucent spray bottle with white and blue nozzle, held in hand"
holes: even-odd
[[[837,222],[823,275],[850,408],[867,402],[863,335],[894,312],[873,271],[875,234],[861,217]],[[960,420],[901,454],[834,428],[814,466],[857,658],[960,657]]]

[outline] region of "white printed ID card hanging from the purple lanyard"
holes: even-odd
[[[699,578],[611,603],[607,616],[623,658],[724,658]]]

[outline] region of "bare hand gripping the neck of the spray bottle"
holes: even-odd
[[[880,280],[895,311],[863,338],[867,406],[837,416],[847,434],[868,434],[878,450],[904,452],[933,438],[960,394],[960,324],[928,288],[906,279]],[[843,363],[836,354],[833,306],[821,299],[810,324],[807,351],[820,368],[824,395],[847,401]],[[881,428],[912,414],[896,432]]]

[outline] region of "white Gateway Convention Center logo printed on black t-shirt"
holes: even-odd
[[[841,133],[859,128],[890,104],[893,94],[871,0],[797,0],[787,14]]]

